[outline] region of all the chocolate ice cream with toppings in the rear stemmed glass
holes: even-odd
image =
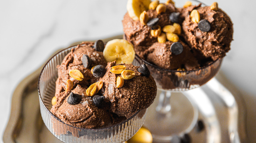
[[[157,7],[166,10],[159,11]],[[173,3],[165,3],[157,7],[142,12],[140,20],[132,19],[128,11],[122,21],[125,38],[134,44],[135,52],[140,58],[160,68],[183,68],[190,71],[224,57],[229,51],[233,35],[232,22],[217,6],[201,7],[200,4],[175,8]],[[191,16],[192,10],[198,11],[198,22],[191,20],[194,18],[194,15]],[[153,20],[157,22],[152,24]],[[181,31],[172,31],[170,28],[166,31],[167,25],[173,28],[174,24],[179,25]],[[152,35],[152,31],[156,29],[155,25],[160,26],[161,34]],[[162,40],[163,38],[165,40]],[[175,54],[171,50],[174,42],[182,44],[181,54]]]

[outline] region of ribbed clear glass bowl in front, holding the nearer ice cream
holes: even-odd
[[[38,80],[39,103],[42,119],[49,131],[63,142],[123,142],[139,130],[146,118],[146,109],[137,111],[129,119],[118,124],[96,129],[77,128],[55,117],[50,109],[55,93],[55,81],[58,77],[57,65],[76,45],[61,50],[43,67]]]

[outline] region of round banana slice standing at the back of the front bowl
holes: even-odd
[[[116,61],[117,64],[131,64],[135,57],[135,52],[133,45],[127,40],[114,39],[107,42],[103,56],[107,62]]]

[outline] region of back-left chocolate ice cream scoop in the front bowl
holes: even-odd
[[[91,73],[91,68],[95,65],[106,66],[107,62],[103,57],[102,52],[98,52],[93,48],[94,42],[83,42],[77,45],[76,48],[72,49],[71,52],[65,56],[62,63],[57,66],[58,79],[56,81],[55,96],[57,99],[62,95],[61,92],[66,89],[66,82],[70,79],[74,87],[81,85],[82,87],[88,87],[92,83],[95,83],[99,78],[96,78]],[[87,55],[90,58],[91,64],[89,67],[83,66],[83,55]],[[82,81],[75,80],[69,75],[69,71],[79,70],[84,78]]]

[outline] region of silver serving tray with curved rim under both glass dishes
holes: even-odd
[[[112,39],[122,39],[122,35],[104,41]],[[13,93],[11,115],[3,136],[5,143],[61,142],[46,128],[40,114],[37,81],[41,69],[24,78]],[[189,133],[192,143],[247,142],[244,99],[221,72],[206,85],[183,94],[197,103],[199,119],[205,126],[201,132],[195,127]]]

